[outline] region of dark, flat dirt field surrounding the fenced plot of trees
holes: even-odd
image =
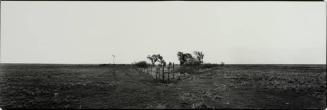
[[[225,65],[170,84],[129,65],[1,64],[1,108],[326,108],[326,65]]]

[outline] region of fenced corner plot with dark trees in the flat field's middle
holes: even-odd
[[[176,66],[174,63],[169,62],[166,65],[166,61],[160,54],[148,55],[146,58],[151,63],[146,61],[140,61],[135,65],[140,68],[143,72],[154,74],[156,80],[162,80],[162,82],[169,82],[172,75],[172,80],[176,78],[180,80],[181,75],[199,73],[201,69],[208,69],[218,67],[219,64],[204,63],[204,54],[201,51],[194,51],[193,54],[186,52],[177,52],[177,57],[180,65]],[[224,62],[221,63],[224,66]],[[150,68],[149,68],[150,67]]]

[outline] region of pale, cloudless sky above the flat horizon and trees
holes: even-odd
[[[326,64],[326,4],[1,1],[1,63],[130,64],[150,54],[178,63],[178,51],[202,51],[208,63]]]

